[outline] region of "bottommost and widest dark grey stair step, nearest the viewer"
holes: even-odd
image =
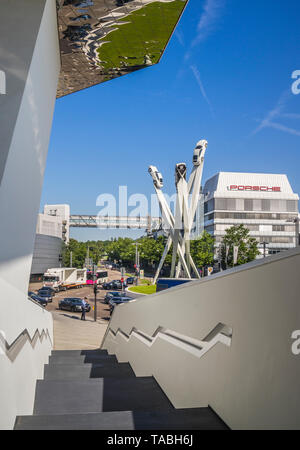
[[[15,430],[226,430],[210,408],[19,416]]]

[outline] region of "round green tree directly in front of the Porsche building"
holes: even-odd
[[[222,264],[226,265],[226,246],[229,249],[227,265],[233,267],[233,247],[238,247],[238,258],[236,265],[240,266],[253,261],[259,255],[258,242],[250,236],[250,231],[245,225],[233,225],[226,230],[221,243]]]

